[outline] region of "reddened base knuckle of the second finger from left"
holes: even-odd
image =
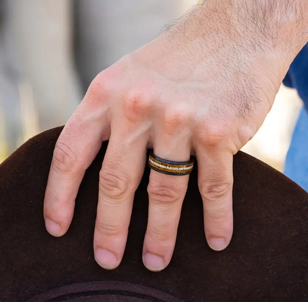
[[[124,102],[124,113],[129,120],[144,118],[152,108],[151,92],[135,89],[128,92]]]

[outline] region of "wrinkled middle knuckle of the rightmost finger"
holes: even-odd
[[[213,204],[215,207],[220,207],[219,203],[224,203],[224,198],[232,188],[230,183],[220,182],[205,182],[201,185],[201,196]]]

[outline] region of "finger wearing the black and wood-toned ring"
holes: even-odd
[[[173,130],[180,130],[178,127],[179,124]],[[189,132],[184,130],[175,134],[172,127],[163,131],[157,131],[160,135],[154,139],[155,155],[170,161],[188,161]],[[161,271],[171,260],[188,179],[189,175],[168,175],[155,170],[150,173],[148,227],[144,238],[143,262],[151,271]]]

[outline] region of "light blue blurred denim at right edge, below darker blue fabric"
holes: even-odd
[[[303,108],[286,156],[284,173],[308,191],[308,111]]]

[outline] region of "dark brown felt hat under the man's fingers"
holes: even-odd
[[[67,234],[45,230],[43,199],[62,128],[22,145],[0,166],[0,301],[308,301],[308,194],[259,160],[234,156],[234,233],[222,252],[205,240],[197,168],[174,255],[162,272],[142,264],[149,168],[136,191],[124,258],[107,271],[93,256],[103,143],[87,170]]]

